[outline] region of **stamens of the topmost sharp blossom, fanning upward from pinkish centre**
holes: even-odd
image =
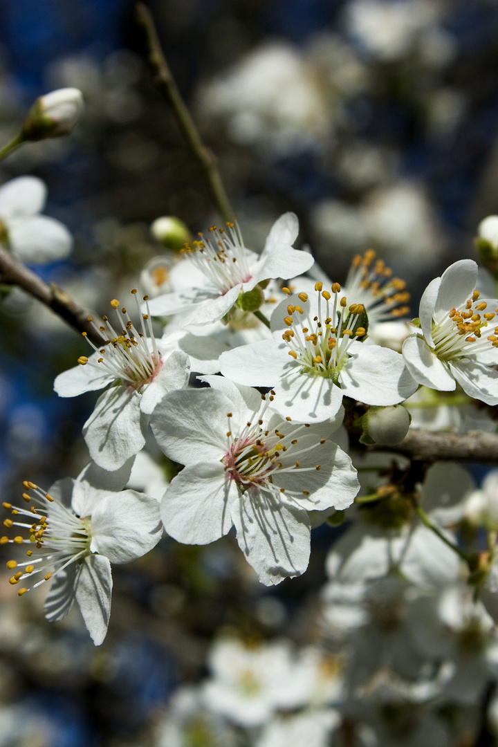
[[[247,249],[237,221],[222,226],[211,226],[211,237],[199,233],[199,240],[192,246],[185,244],[182,253],[211,280],[221,293],[226,293],[234,285],[240,285],[251,279],[248,265]]]

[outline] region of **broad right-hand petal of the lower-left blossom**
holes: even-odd
[[[103,498],[92,514],[92,552],[123,563],[140,558],[163,535],[159,504],[134,490]]]

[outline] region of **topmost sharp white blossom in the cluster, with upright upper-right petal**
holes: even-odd
[[[247,249],[237,223],[226,229],[212,226],[211,237],[200,235],[184,249],[189,262],[189,285],[150,303],[153,316],[181,314],[181,326],[209,324],[228,314],[240,293],[252,291],[259,282],[294,277],[309,270],[313,258],[292,248],[299,226],[293,213],[273,224],[261,255]]]

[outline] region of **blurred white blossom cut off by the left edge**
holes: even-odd
[[[0,187],[0,242],[28,264],[48,264],[72,250],[72,236],[59,220],[40,215],[47,188],[36,176],[19,176]]]

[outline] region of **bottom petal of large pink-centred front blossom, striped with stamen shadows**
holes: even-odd
[[[265,586],[300,576],[308,568],[311,529],[305,511],[250,488],[234,500],[231,516],[239,547]]]

